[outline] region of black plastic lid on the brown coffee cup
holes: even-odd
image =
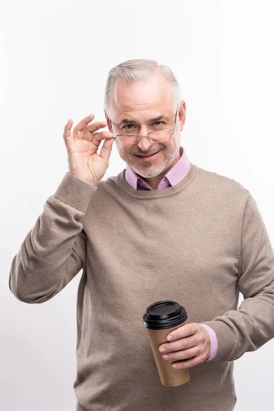
[[[149,329],[165,329],[176,327],[188,318],[184,307],[176,301],[157,301],[147,307],[147,312],[142,316],[143,325]]]

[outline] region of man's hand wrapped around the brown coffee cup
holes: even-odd
[[[197,323],[182,325],[167,334],[166,337],[173,336],[171,343],[160,345],[166,351],[162,355],[169,355],[164,360],[175,361],[175,369],[190,369],[192,366],[206,362],[210,357],[210,335],[208,331]]]

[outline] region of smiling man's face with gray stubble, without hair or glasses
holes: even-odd
[[[120,157],[142,177],[155,177],[166,174],[179,160],[180,132],[184,128],[186,103],[181,101],[177,113],[175,133],[164,142],[151,142],[147,138],[149,132],[160,129],[173,131],[177,103],[173,86],[158,74],[148,79],[125,84],[117,80],[110,102],[110,119],[112,132],[117,134],[140,134],[143,137],[134,145],[116,147]],[[158,117],[162,119],[155,121]],[[110,121],[105,115],[110,129]],[[126,123],[122,123],[127,119]],[[115,125],[113,124],[115,123]],[[141,155],[155,153],[151,158]]]

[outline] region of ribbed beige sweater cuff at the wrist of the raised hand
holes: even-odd
[[[96,191],[97,187],[86,184],[68,171],[53,196],[86,213],[91,197]]]

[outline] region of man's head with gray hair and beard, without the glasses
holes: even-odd
[[[108,74],[104,109],[108,128],[115,136],[133,132],[142,136],[133,145],[116,142],[121,158],[135,173],[145,178],[165,175],[179,160],[186,103],[181,101],[179,84],[169,67],[142,59],[114,67]],[[170,140],[153,142],[147,138],[149,132],[160,129],[172,132],[174,125]],[[140,156],[156,152],[149,160]]]

